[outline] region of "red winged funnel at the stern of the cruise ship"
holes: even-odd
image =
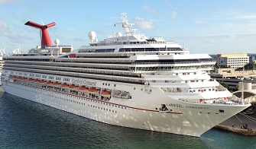
[[[49,36],[48,31],[47,31],[47,28],[53,27],[55,25],[55,22],[47,24],[47,25],[41,25],[41,24],[36,24],[32,21],[28,21],[25,25],[41,29],[41,32],[42,32],[41,46],[53,46],[53,43],[51,43],[50,36]]]

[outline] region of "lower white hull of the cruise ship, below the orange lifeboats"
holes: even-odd
[[[166,101],[167,103],[171,103],[168,108],[173,109],[173,111],[180,109],[179,113],[165,113],[145,107],[141,108],[138,106],[141,103],[136,103],[136,99],[133,100],[132,106],[125,106],[125,104],[122,104],[125,102],[112,103],[112,100],[105,102],[8,81],[4,81],[3,88],[8,94],[99,122],[128,128],[139,128],[196,137],[199,137],[210,128],[248,106],[237,105],[230,108],[229,106],[223,105],[193,104],[180,100],[171,100],[170,97],[163,99],[164,97],[161,94],[159,96],[157,94],[151,94],[150,96],[143,94],[142,96],[138,96],[141,98],[138,101],[154,100],[158,103],[157,105]],[[160,103],[157,100],[160,100]],[[220,113],[219,109],[225,112]]]

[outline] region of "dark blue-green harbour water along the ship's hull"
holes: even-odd
[[[201,138],[107,125],[6,94],[0,148],[256,148],[256,137],[211,129]]]

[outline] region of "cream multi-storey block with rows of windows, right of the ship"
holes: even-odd
[[[249,56],[246,53],[218,54],[216,65],[226,68],[241,68],[249,63]]]

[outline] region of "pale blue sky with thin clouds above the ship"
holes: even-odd
[[[52,43],[78,49],[88,45],[89,31],[98,40],[123,33],[114,25],[121,12],[136,33],[177,41],[190,53],[256,53],[256,0],[0,0],[0,49],[8,54],[41,45],[28,21],[55,22],[48,28]]]

